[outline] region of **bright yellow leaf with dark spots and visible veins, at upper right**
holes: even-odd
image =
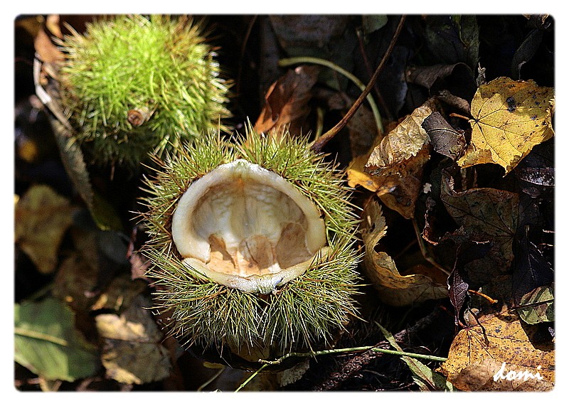
[[[480,86],[471,104],[472,139],[458,164],[499,164],[509,173],[533,146],[553,137],[554,97],[553,87],[533,80],[497,78]]]

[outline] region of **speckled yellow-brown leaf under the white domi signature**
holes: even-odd
[[[550,390],[555,382],[555,350],[551,341],[534,343],[509,311],[479,318],[459,331],[441,371],[459,390]],[[483,329],[484,328],[484,329]],[[502,373],[502,364],[504,368]],[[501,378],[509,371],[543,377]],[[494,379],[496,376],[496,380]],[[514,374],[510,375],[511,378]]]

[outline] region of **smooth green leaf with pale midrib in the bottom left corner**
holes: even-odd
[[[97,372],[97,351],[75,329],[75,315],[62,302],[16,304],[14,321],[14,358],[36,375],[73,382]]]

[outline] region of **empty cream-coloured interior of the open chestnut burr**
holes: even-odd
[[[261,293],[304,273],[326,245],[314,203],[277,173],[242,159],[191,184],[174,211],[172,236],[192,269]]]

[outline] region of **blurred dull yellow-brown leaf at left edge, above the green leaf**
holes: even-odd
[[[68,199],[46,185],[31,186],[16,204],[16,244],[39,272],[53,272],[74,208]]]

